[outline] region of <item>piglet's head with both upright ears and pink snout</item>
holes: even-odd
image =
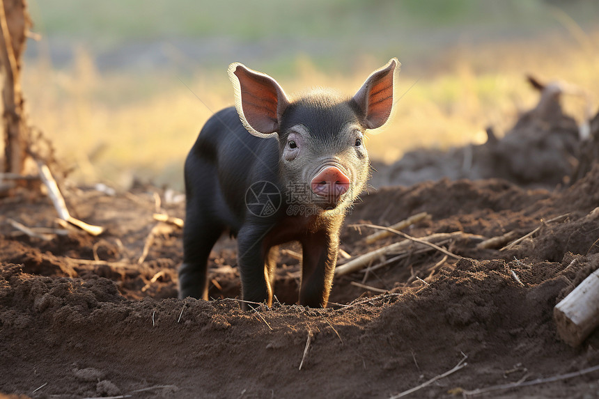
[[[229,66],[244,127],[279,141],[280,178],[290,202],[322,212],[355,200],[370,168],[364,136],[390,119],[399,69],[391,58],[351,98],[313,91],[290,100],[272,77],[240,63]]]

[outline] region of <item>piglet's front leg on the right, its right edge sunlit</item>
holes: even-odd
[[[310,306],[311,308],[327,306],[337,263],[338,231],[338,229],[334,231],[321,230],[302,240],[300,305]]]

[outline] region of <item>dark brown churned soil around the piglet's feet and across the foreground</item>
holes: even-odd
[[[299,262],[285,254],[275,288],[281,303],[259,314],[228,299],[239,294],[232,240],[219,242],[211,256],[215,300],[176,299],[181,230],[153,220],[153,192],[162,196],[163,212],[184,217],[184,211],[181,203],[165,203],[160,190],[107,196],[70,189],[72,213],[107,232],[90,237],[72,229],[49,241],[7,223],[54,227],[47,198],[5,199],[0,392],[34,398],[388,398],[467,355],[467,366],[413,395],[437,398],[595,366],[599,333],[569,347],[557,336],[552,311],[599,267],[599,219],[589,215],[599,205],[598,186],[596,166],[573,187],[553,193],[492,179],[381,189],[363,196],[346,225],[389,225],[426,211],[432,219],[407,233],[494,237],[516,230],[521,236],[542,227],[507,251],[456,240],[449,249],[465,257],[459,261],[439,264],[442,253],[429,252],[365,280],[361,272],[338,277],[330,300],[339,305],[324,310],[293,304]],[[150,251],[138,264],[151,230]],[[362,239],[370,232],[345,227],[343,249],[359,254],[398,240],[368,246]],[[487,396],[593,398],[598,378],[595,372]]]

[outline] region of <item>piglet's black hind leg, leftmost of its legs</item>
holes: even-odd
[[[183,264],[179,268],[179,297],[208,299],[208,256],[224,228],[210,220],[201,204],[189,201],[183,229]]]

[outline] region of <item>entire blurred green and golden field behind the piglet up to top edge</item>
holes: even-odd
[[[525,75],[599,93],[596,0],[29,0],[31,122],[82,184],[182,189],[205,120],[233,104],[240,61],[288,93],[348,95],[396,56],[396,119],[366,146],[393,162],[501,134],[536,104]],[[584,116],[580,98],[566,110]]]

